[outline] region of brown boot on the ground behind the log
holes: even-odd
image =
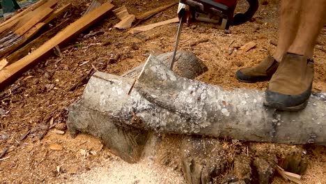
[[[242,68],[235,73],[235,77],[240,82],[262,82],[269,80],[276,72],[279,62],[272,56],[267,56],[265,60],[257,66]]]

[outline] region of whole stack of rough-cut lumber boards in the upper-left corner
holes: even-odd
[[[11,84],[16,77],[34,66],[54,48],[68,43],[102,20],[114,7],[110,2],[92,6],[92,10],[88,10],[88,13],[84,13],[71,24],[70,20],[62,19],[63,21],[44,33],[40,33],[42,28],[65,14],[72,6],[70,3],[54,10],[57,0],[41,0],[0,24],[0,89]]]

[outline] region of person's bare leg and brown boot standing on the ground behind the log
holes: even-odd
[[[279,66],[282,56],[295,39],[298,27],[298,17],[302,0],[281,1],[279,18],[279,41],[273,56],[267,56],[257,66],[242,68],[235,73],[240,82],[261,82],[269,80]]]

